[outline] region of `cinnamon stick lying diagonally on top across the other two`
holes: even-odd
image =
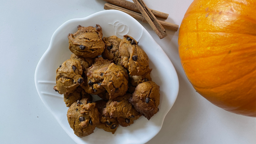
[[[140,10],[141,14],[145,17],[148,24],[153,28],[153,30],[158,35],[158,37],[160,39],[166,37],[167,33],[166,33],[164,27],[159,23],[159,21],[156,19],[156,17],[150,11],[150,9],[147,7],[147,5],[142,0],[132,0],[132,1],[137,6],[137,8]]]

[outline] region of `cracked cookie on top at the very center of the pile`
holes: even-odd
[[[101,85],[109,93],[109,99],[122,96],[128,90],[128,75],[123,67],[111,63],[103,73],[103,77],[104,80]]]

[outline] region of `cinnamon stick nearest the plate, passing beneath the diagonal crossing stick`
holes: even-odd
[[[132,16],[133,18],[135,18],[137,20],[141,20],[143,23],[148,23],[147,20],[143,17],[142,14],[133,12],[131,10],[128,10],[128,9],[125,9],[125,8],[122,8],[122,7],[119,7],[119,6],[115,6],[115,5],[112,5],[112,4],[109,4],[109,3],[105,3],[104,9],[120,10],[120,11]],[[175,25],[173,23],[169,23],[169,22],[162,21],[162,20],[158,20],[158,21],[166,29],[177,31],[178,28],[179,28],[179,25]]]

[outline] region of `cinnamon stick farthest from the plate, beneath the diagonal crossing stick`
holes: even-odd
[[[132,10],[134,12],[138,12],[140,13],[140,10],[136,7],[136,5],[132,2],[126,1],[126,0],[103,0],[105,2],[109,2],[111,4]],[[163,13],[163,12],[159,12],[157,10],[154,9],[150,9],[150,11],[157,17],[161,17],[163,19],[167,19],[169,14]]]

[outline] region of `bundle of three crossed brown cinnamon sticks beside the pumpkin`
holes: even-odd
[[[155,16],[167,19],[169,14],[159,12],[157,10],[149,9],[143,0],[133,0],[134,3],[126,0],[103,0],[109,3],[104,5],[104,9],[116,9],[126,14],[129,14],[137,20],[141,20],[143,23],[148,23],[156,32],[160,39],[167,36],[167,33],[164,28],[170,29],[173,31],[178,30],[178,25],[158,20]]]

